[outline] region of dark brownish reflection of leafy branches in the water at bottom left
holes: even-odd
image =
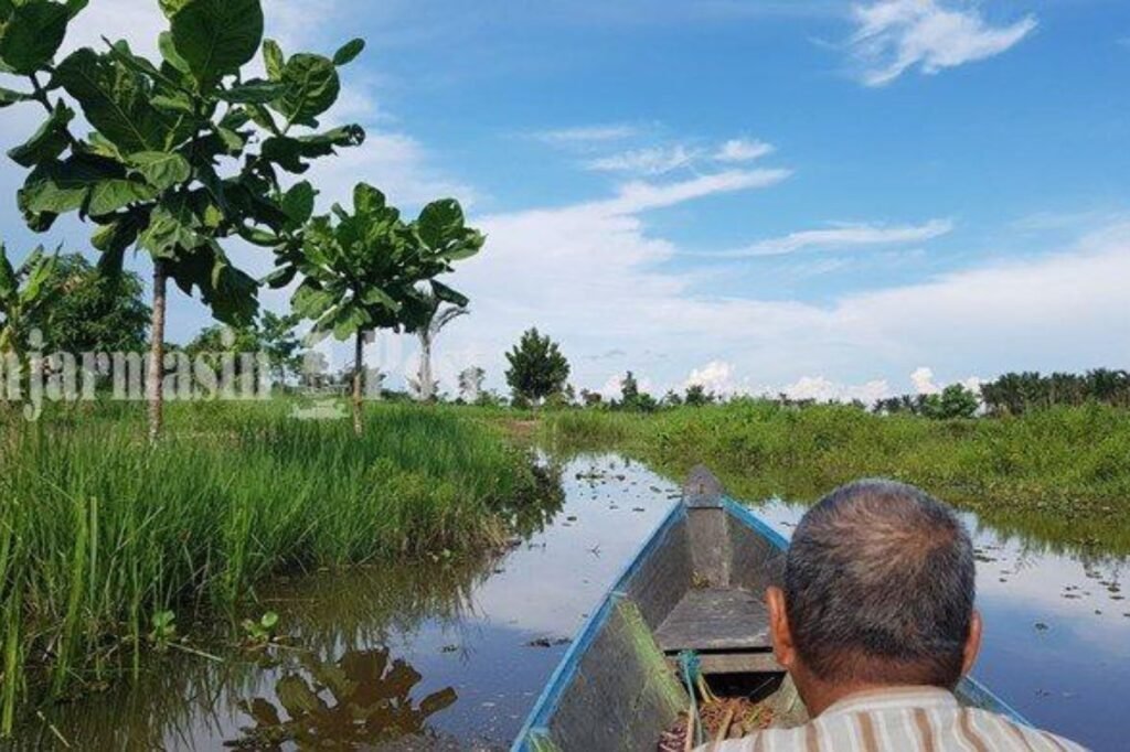
[[[334,663],[303,658],[307,676],[288,672],[275,684],[275,696],[286,711],[266,698],[241,702],[255,722],[231,746],[278,750],[285,743],[298,749],[340,749],[427,733],[427,719],[455,702],[446,688],[418,703],[412,689],[423,676],[389,650],[346,653]]]

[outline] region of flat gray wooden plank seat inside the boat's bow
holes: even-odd
[[[759,596],[737,588],[694,588],[655,630],[655,640],[664,653],[767,650],[768,627]]]

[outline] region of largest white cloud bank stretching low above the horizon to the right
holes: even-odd
[[[866,401],[885,391],[880,382],[902,382],[922,364],[945,374],[1071,370],[1130,350],[1130,221],[1053,254],[822,303],[722,297],[694,268],[668,265],[679,248],[649,234],[640,213],[745,183],[641,185],[606,201],[476,218],[487,247],[454,280],[471,296],[475,326],[442,349],[492,353],[477,365],[498,386],[502,353],[537,325],[562,343],[577,387],[605,384],[607,365],[589,356],[615,348],[655,393],[679,388],[690,365],[706,364],[697,379],[734,391],[784,385],[796,395]]]

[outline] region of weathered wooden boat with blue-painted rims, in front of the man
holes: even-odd
[[[574,639],[512,752],[654,752],[690,701],[676,668],[685,650],[716,692],[756,689],[779,724],[807,720],[773,658],[763,603],[786,548],[710,471],[692,471],[683,500]],[[957,696],[1027,723],[973,679]]]

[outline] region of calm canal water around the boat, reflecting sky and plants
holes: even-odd
[[[316,572],[261,591],[287,647],[171,652],[132,685],[60,706],[15,746],[293,750],[508,746],[567,640],[662,519],[677,487],[615,456],[560,469],[507,553],[432,567]],[[801,510],[759,507],[788,534]],[[1128,749],[1124,560],[1088,560],[979,527],[977,675],[1035,723]]]

